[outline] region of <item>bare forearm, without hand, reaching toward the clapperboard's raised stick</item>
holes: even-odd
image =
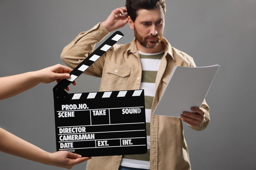
[[[0,77],[0,100],[15,96],[40,83],[36,72]]]

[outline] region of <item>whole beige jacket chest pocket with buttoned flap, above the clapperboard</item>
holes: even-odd
[[[106,64],[104,76],[102,77],[101,87],[103,91],[124,90],[130,69],[126,69],[116,64]]]

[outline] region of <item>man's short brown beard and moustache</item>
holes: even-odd
[[[161,38],[163,36],[163,32],[160,35],[153,35],[153,36],[146,36],[143,38],[140,34],[138,34],[136,28],[134,27],[134,35],[136,40],[146,48],[155,48],[158,46],[158,44],[161,42]],[[157,38],[156,41],[148,41],[148,38]]]

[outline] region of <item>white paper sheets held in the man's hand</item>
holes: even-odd
[[[200,107],[219,67],[175,66],[153,114],[180,117],[183,111]]]

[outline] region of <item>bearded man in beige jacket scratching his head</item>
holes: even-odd
[[[165,10],[164,0],[126,0],[126,8],[113,10],[104,22],[80,33],[62,51],[62,60],[74,68],[109,32],[126,23],[134,30],[131,43],[115,44],[85,73],[102,77],[100,91],[144,89],[148,152],[94,157],[88,161],[88,170],[191,169],[182,121],[195,130],[206,128],[210,120],[206,102],[200,108],[191,108],[196,114],[180,113],[181,119],[152,114],[173,67],[196,67],[193,58],[173,48],[162,37]],[[172,108],[166,110],[171,111]]]

